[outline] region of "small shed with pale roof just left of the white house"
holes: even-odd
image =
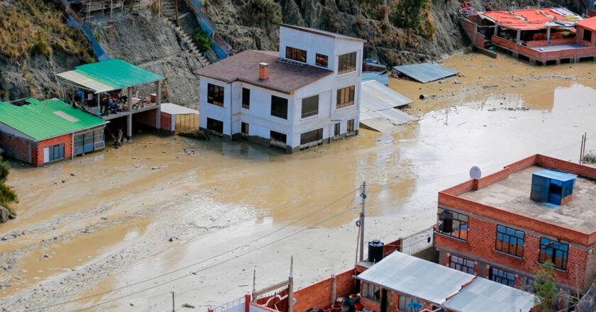
[[[173,103],[161,104],[161,128],[171,133],[199,128],[199,111]]]

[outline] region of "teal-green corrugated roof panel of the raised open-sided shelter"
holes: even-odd
[[[75,72],[121,89],[136,84],[156,82],[165,77],[120,59],[105,60],[75,67]]]

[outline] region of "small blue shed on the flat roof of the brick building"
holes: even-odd
[[[564,205],[573,199],[573,185],[578,176],[544,169],[532,173],[530,199],[542,203]]]

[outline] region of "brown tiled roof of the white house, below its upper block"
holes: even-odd
[[[197,70],[197,74],[224,82],[240,80],[286,94],[333,74],[333,71],[310,65],[280,62],[274,51],[245,50]],[[259,79],[259,63],[269,64],[269,79]]]

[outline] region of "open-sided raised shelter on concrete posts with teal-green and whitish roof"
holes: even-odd
[[[165,77],[119,59],[77,66],[75,69],[61,72],[56,76],[60,87],[61,99],[65,98],[65,94],[62,93],[64,89],[70,88],[71,91],[91,91],[95,94],[93,97],[94,100],[87,101],[85,99],[82,101],[83,108],[104,120],[126,118],[126,120],[123,120],[123,124],[126,124],[127,137],[132,135],[133,114],[136,113],[143,114],[135,116],[134,123],[160,129],[162,93],[160,82],[165,80]],[[155,91],[139,95],[136,94],[137,92],[134,92],[139,89],[146,91],[146,88],[138,87],[147,84],[154,84]],[[114,111],[101,109],[100,101],[102,97],[116,96],[121,92],[126,94],[126,104],[121,105],[119,109]]]

